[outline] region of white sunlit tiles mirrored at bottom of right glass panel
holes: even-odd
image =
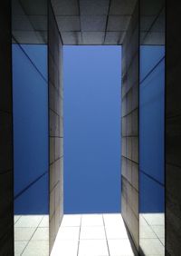
[[[140,214],[140,246],[148,256],[165,255],[165,217],[163,213]]]

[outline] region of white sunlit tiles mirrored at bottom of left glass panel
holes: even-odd
[[[14,216],[14,255],[49,255],[48,215]]]

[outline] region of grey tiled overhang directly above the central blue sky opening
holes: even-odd
[[[52,0],[63,44],[122,44],[136,0]]]

